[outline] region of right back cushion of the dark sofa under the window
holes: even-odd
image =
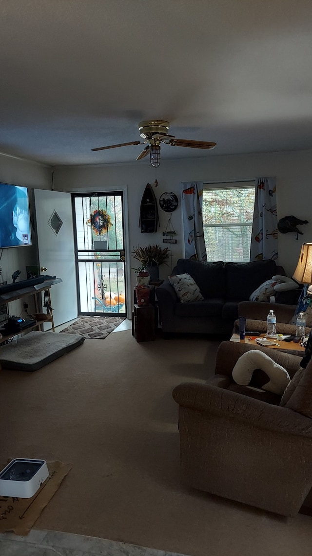
[[[248,301],[260,284],[276,274],[275,261],[226,262],[226,297],[228,300]]]

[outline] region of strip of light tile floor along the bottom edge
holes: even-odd
[[[32,529],[27,537],[0,533],[1,556],[183,556],[154,548],[84,537],[71,533]]]

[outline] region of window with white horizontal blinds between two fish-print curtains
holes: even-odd
[[[203,229],[207,261],[248,262],[254,182],[204,184]]]

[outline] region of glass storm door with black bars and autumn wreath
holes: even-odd
[[[126,316],[122,193],[72,198],[79,315]]]

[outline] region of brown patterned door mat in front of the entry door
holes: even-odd
[[[104,340],[123,320],[116,316],[80,316],[78,321],[64,328],[61,333],[81,334],[89,340]]]

